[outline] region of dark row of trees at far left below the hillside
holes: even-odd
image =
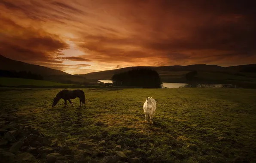
[[[8,77],[8,78],[30,78],[36,80],[43,80],[43,76],[39,74],[31,73],[30,71],[8,71],[8,70],[0,70],[1,77]]]

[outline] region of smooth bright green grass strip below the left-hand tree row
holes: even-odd
[[[3,86],[19,86],[19,85],[35,85],[35,86],[55,86],[55,85],[70,85],[44,80],[34,80],[27,78],[3,78],[0,77],[0,85]]]

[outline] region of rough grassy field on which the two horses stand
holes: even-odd
[[[151,163],[256,162],[256,90],[232,88],[83,89],[86,106],[52,108],[61,89],[0,91],[0,111],[15,115],[77,154],[79,141],[116,145],[128,157]],[[154,125],[145,122],[143,103],[156,100]],[[63,133],[67,133],[63,137]],[[88,157],[90,158],[90,157]],[[101,158],[96,158],[101,159]]]

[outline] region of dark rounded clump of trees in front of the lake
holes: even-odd
[[[112,76],[114,86],[135,86],[143,88],[162,88],[158,72],[152,69],[132,69]]]

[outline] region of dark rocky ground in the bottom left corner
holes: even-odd
[[[76,150],[60,146],[31,125],[24,125],[12,111],[0,115],[0,163],[137,163],[129,157],[131,151],[121,151],[121,146],[111,152],[101,151],[103,140],[79,142]],[[64,134],[64,133],[63,133]]]

